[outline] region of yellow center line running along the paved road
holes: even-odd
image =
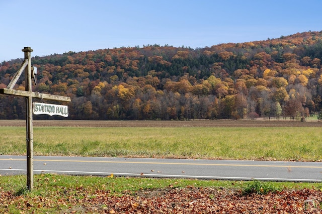
[[[26,161],[25,159],[0,158],[0,160]],[[290,168],[322,168],[322,166],[292,166],[292,165],[263,165],[263,164],[220,164],[220,163],[174,163],[174,162],[146,162],[146,161],[93,161],[93,160],[52,160],[34,159],[46,162],[80,162],[80,163],[123,163],[123,164],[164,164],[164,165],[194,165],[194,166],[251,166],[251,167],[290,167]]]

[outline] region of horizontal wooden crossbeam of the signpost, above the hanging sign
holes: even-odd
[[[0,93],[11,94],[16,96],[31,96],[39,99],[49,99],[49,100],[64,101],[64,102],[71,101],[69,96],[59,96],[59,95],[53,95],[53,94],[47,94],[47,93],[30,92],[25,90],[15,90],[15,89],[9,89],[9,88],[0,88]]]

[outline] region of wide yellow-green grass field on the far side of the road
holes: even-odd
[[[35,155],[317,161],[322,129],[35,127]],[[0,154],[26,153],[23,127],[0,129]]]

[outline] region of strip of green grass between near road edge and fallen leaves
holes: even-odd
[[[108,190],[112,195],[122,195],[124,193],[134,194],[142,189],[183,188],[187,186],[244,189],[262,185],[263,183],[270,183],[276,189],[322,189],[321,183],[71,176],[58,174],[35,174],[34,181],[34,189],[31,193],[38,195],[47,194],[47,191],[57,191],[60,194],[61,191],[64,191],[64,188],[79,189],[80,187],[89,191],[97,189]],[[25,183],[25,175],[0,176],[1,191],[12,191],[16,195],[20,195],[24,193],[22,190],[26,188]]]

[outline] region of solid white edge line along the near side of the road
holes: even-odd
[[[26,169],[0,169],[0,171],[27,171]],[[141,177],[165,177],[165,178],[199,178],[218,180],[263,180],[263,181],[295,181],[295,182],[322,182],[321,179],[302,178],[256,178],[256,177],[220,177],[220,176],[193,176],[193,175],[166,175],[166,174],[137,174],[137,173],[114,173],[114,172],[83,172],[83,171],[60,171],[60,170],[34,170],[34,172],[58,172],[69,174],[94,174],[94,175],[119,175],[119,176],[141,176]]]

